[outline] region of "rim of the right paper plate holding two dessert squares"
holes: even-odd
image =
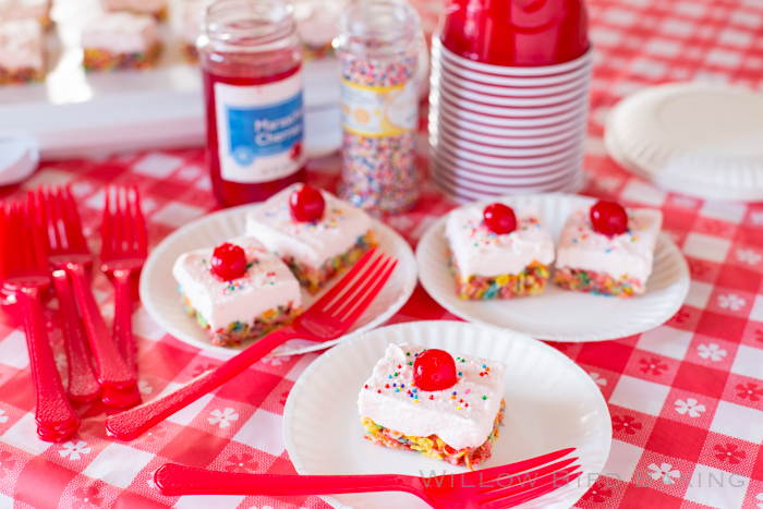
[[[469,207],[472,205],[481,205],[481,204],[487,205],[492,202],[495,202],[496,199],[518,199],[518,198],[519,199],[533,199],[533,198],[560,199],[560,198],[567,198],[567,197],[595,199],[592,196],[583,196],[580,194],[561,193],[561,192],[558,192],[558,193],[537,193],[537,194],[521,195],[521,196],[505,195],[505,196],[495,196],[492,198],[485,198],[485,199],[481,199],[481,201],[476,201],[476,202],[468,202],[463,205],[460,205],[459,207],[453,208],[452,210],[457,210],[457,209],[460,209],[463,207]],[[690,277],[690,271],[689,271],[689,264],[686,259],[686,256],[683,256],[683,253],[681,253],[681,250],[678,249],[676,243],[673,242],[673,239],[670,239],[670,237],[667,233],[665,233],[664,231],[661,231],[659,238],[658,238],[658,243],[659,242],[666,243],[666,250],[677,253],[678,258],[680,258],[680,260],[681,260],[681,263],[680,263],[680,276],[679,276],[677,282],[681,283],[682,288],[679,289],[679,291],[681,291],[682,298],[680,299],[680,302],[677,300],[677,302],[674,304],[673,308],[670,310],[671,312],[670,312],[670,315],[668,316],[668,318],[658,325],[652,326],[652,327],[650,327],[647,329],[643,329],[643,330],[628,330],[628,331],[625,331],[617,337],[608,337],[606,335],[604,335],[604,336],[594,335],[594,336],[580,337],[580,336],[560,336],[560,335],[553,336],[553,335],[543,335],[543,334],[537,335],[535,332],[531,332],[531,331],[526,331],[526,330],[518,330],[518,329],[513,329],[511,327],[502,327],[502,326],[497,325],[497,324],[492,324],[489,322],[484,322],[482,319],[474,318],[471,315],[469,315],[468,313],[459,310],[458,307],[450,305],[448,302],[446,302],[444,299],[441,299],[437,292],[433,291],[431,281],[428,281],[425,277],[426,271],[421,269],[421,266],[424,265],[422,262],[423,254],[421,251],[422,250],[421,246],[426,245],[427,242],[429,242],[429,239],[436,234],[438,229],[445,227],[445,222],[447,221],[447,218],[452,213],[452,210],[450,210],[447,214],[445,214],[444,216],[437,218],[437,220],[434,221],[429,226],[429,228],[426,229],[424,234],[421,237],[421,240],[419,241],[419,244],[416,245],[416,263],[420,265],[419,281],[421,282],[422,287],[424,287],[424,290],[426,291],[426,293],[428,293],[429,296],[432,296],[432,299],[435,302],[437,302],[437,304],[443,306],[446,311],[448,311],[449,313],[458,316],[459,318],[461,318],[465,322],[469,322],[472,324],[488,325],[492,327],[497,327],[497,328],[506,329],[506,330],[512,330],[514,332],[528,335],[528,336],[531,336],[533,338],[544,340],[544,341],[570,342],[570,343],[611,341],[611,340],[616,340],[616,339],[627,338],[629,336],[633,336],[637,334],[645,332],[647,330],[653,329],[654,327],[658,327],[659,325],[665,324],[665,322],[667,322],[670,318],[670,316],[675,315],[681,308],[681,306],[686,302],[686,299],[689,294],[689,287],[690,287],[690,282],[691,282],[691,277]],[[555,250],[556,250],[556,246],[555,246]],[[542,299],[543,295],[540,295],[538,298]]]

